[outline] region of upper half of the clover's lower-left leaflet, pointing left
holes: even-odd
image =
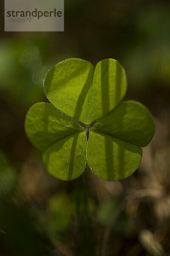
[[[52,104],[39,102],[29,109],[25,130],[31,143],[45,150],[58,140],[84,129],[71,117],[57,111]]]

